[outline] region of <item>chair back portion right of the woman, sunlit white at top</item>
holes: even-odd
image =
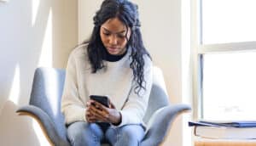
[[[148,124],[148,120],[154,114],[154,111],[169,104],[169,98],[166,92],[166,83],[160,68],[153,69],[153,85],[148,99],[148,109],[143,117],[143,121]]]

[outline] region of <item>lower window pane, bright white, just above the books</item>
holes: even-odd
[[[203,55],[202,115],[256,120],[256,52]]]

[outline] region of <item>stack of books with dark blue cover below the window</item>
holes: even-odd
[[[256,139],[256,121],[189,121],[195,136],[218,139]]]

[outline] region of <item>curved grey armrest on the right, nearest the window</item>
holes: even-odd
[[[186,104],[172,104],[156,110],[148,121],[142,146],[156,146],[162,143],[177,115],[189,110],[191,108]]]

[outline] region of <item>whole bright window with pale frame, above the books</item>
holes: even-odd
[[[256,1],[192,2],[195,116],[256,120]]]

